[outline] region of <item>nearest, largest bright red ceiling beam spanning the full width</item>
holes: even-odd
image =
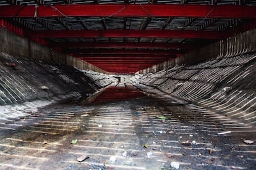
[[[256,6],[174,4],[74,4],[0,6],[0,17],[208,17],[255,18]]]

